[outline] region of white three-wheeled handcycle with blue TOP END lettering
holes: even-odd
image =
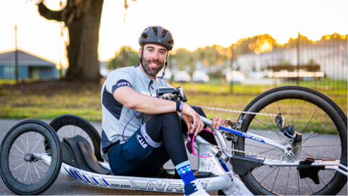
[[[183,90],[171,93],[185,99]],[[324,94],[306,87],[277,87],[237,112],[239,118],[219,130],[201,117],[219,143],[211,145],[199,136],[194,141],[199,154],[194,172],[206,190],[231,185],[217,157],[230,160],[254,195],[335,195],[344,187],[348,120]],[[63,135],[58,136],[60,132]],[[20,122],[1,142],[1,178],[18,195],[44,192],[59,173],[104,188],[183,191],[182,180],[173,177],[175,169],[161,169],[146,178],[114,176],[102,161],[100,140],[92,124],[79,116],[58,116],[49,125],[38,120]]]

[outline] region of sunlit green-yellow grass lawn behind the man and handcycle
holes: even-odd
[[[230,94],[228,85],[182,85],[187,104],[242,111],[252,99],[270,87],[235,85]],[[247,93],[246,93],[247,92]],[[36,118],[51,120],[62,114],[76,114],[87,121],[101,121],[101,84],[73,82],[32,82],[0,85],[0,118]],[[348,92],[323,92],[348,114]],[[206,115],[237,120],[240,114],[204,109]]]

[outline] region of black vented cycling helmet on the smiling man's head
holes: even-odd
[[[159,44],[168,51],[174,47],[174,39],[170,31],[161,26],[147,27],[139,37],[140,46],[144,44]]]

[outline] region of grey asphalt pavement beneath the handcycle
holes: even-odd
[[[6,135],[7,131],[16,123],[20,121],[17,120],[7,120],[0,119],[0,141],[3,140],[4,135]],[[45,121],[49,123],[49,121]],[[101,123],[92,123],[95,128],[100,132],[101,131]],[[190,155],[189,155],[190,156]],[[197,168],[197,158],[190,157],[192,162],[192,167]],[[192,161],[193,160],[193,161]],[[173,164],[171,162],[165,165],[167,168],[173,168]],[[230,167],[230,165],[229,165]],[[8,190],[4,182],[0,180],[0,195],[14,195],[11,190]],[[211,195],[218,195],[217,191],[209,192]],[[99,188],[92,185],[85,185],[82,183],[78,183],[75,180],[70,180],[69,178],[58,176],[56,182],[46,190],[42,195],[168,195],[163,192],[142,192],[135,190],[118,190],[118,189],[109,189],[109,188]],[[170,195],[181,195],[181,194],[170,194]],[[345,185],[344,188],[338,195],[348,195],[348,185]]]

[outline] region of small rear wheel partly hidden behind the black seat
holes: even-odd
[[[92,146],[97,160],[104,161],[101,158],[100,151],[101,137],[96,128],[85,118],[73,114],[64,114],[54,118],[49,125],[56,130],[60,140],[63,140],[63,137],[74,137],[75,135],[85,137]]]

